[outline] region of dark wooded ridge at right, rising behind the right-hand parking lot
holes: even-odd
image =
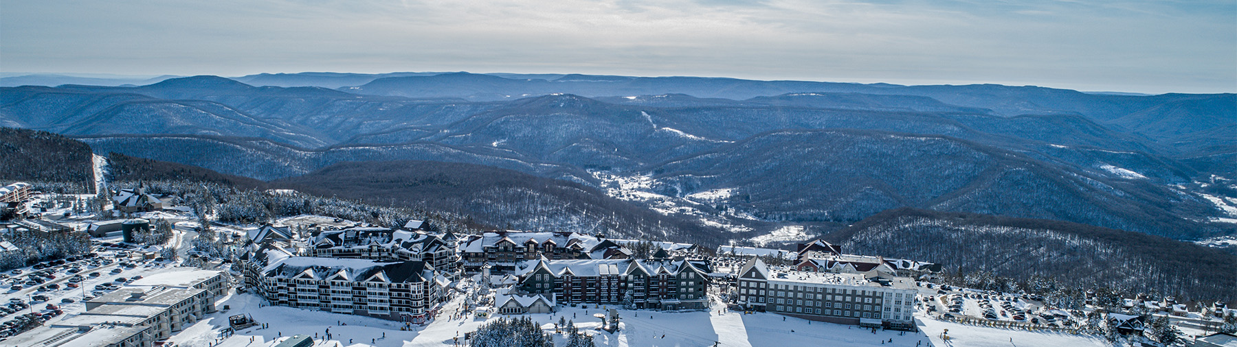
[[[1237,256],[1089,225],[899,209],[826,240],[849,253],[940,263],[954,283],[980,289],[1048,294],[1110,288],[1237,300]]]

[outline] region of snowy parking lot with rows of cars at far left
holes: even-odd
[[[83,301],[166,268],[169,262],[115,245],[0,273],[0,341],[85,311]]]

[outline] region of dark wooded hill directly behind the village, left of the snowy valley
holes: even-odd
[[[447,211],[506,228],[703,245],[719,245],[724,236],[717,228],[661,215],[591,186],[476,164],[345,162],[271,184],[367,204]]]

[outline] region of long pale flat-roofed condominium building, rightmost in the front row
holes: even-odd
[[[772,270],[758,258],[738,275],[738,304],[807,320],[914,328],[914,280],[887,274]]]

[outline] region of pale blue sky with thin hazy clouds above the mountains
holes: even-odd
[[[0,0],[0,73],[695,75],[1237,91],[1233,0]]]

